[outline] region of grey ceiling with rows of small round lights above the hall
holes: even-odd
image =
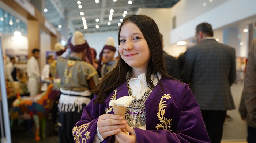
[[[80,0],[82,8],[78,8],[78,0],[45,0],[45,8],[48,12],[44,15],[56,28],[62,25],[64,20],[68,23],[68,35],[78,30],[83,33],[97,33],[106,31],[117,31],[122,15],[127,11],[127,15],[136,13],[141,7],[147,8],[170,8],[179,0]],[[109,21],[110,9],[113,9],[112,21]],[[80,12],[84,12],[81,16]],[[84,29],[82,17],[86,19],[88,29]],[[95,19],[98,18],[99,22]],[[110,22],[111,25],[107,23]],[[99,28],[95,28],[99,25]]]

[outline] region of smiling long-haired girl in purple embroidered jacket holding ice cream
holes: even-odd
[[[128,16],[118,37],[118,63],[93,90],[94,99],[72,130],[75,142],[210,143],[188,85],[166,73],[155,21]],[[109,107],[110,100],[123,96],[134,98],[125,119]]]

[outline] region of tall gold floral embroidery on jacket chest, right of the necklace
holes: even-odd
[[[163,101],[163,98],[169,99],[171,98],[170,94],[164,94],[160,100],[160,103],[158,105],[158,112],[157,112],[157,117],[159,118],[158,120],[162,123],[162,124],[157,124],[157,126],[155,126],[155,128],[157,130],[168,130],[170,132],[172,132],[172,119],[170,118],[169,120],[167,120],[163,115],[165,115],[165,109],[167,104],[164,104],[166,101]]]

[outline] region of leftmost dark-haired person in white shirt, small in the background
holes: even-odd
[[[10,63],[6,65],[6,74],[7,74],[7,80],[9,82],[18,81],[16,77],[16,71],[14,64],[16,63],[15,57],[10,57]]]

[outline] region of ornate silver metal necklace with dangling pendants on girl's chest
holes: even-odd
[[[144,91],[144,95],[141,98],[133,99],[130,106],[125,113],[125,119],[130,127],[140,128],[146,124],[146,110],[145,101],[153,90],[148,89]],[[128,94],[133,97],[132,89],[128,85]],[[134,98],[134,97],[133,97]],[[135,125],[133,121],[135,119]]]

